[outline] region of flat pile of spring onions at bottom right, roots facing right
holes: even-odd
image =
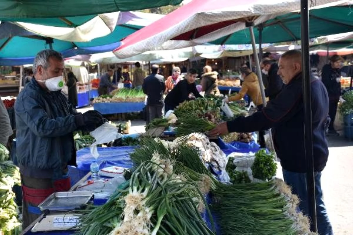
[[[213,194],[222,234],[310,234],[309,220],[296,212],[298,197],[282,180],[219,184]]]

